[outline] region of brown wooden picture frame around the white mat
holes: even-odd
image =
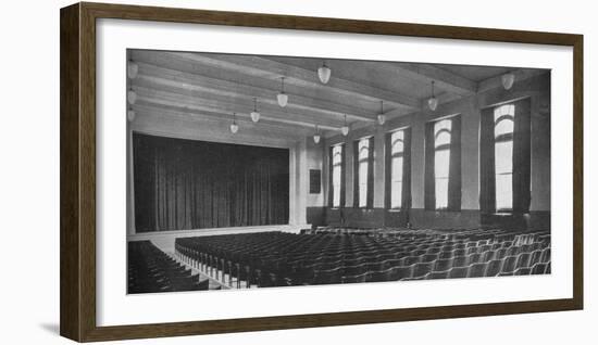
[[[489,28],[300,17],[107,3],[61,10],[60,333],[78,341],[178,336],[340,324],[464,318],[583,308],[583,36]],[[573,48],[573,297],[383,310],[354,310],[159,324],[96,322],[96,21],[157,21],[294,30],[397,35]]]

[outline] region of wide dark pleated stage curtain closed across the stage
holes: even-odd
[[[133,135],[138,232],[288,223],[289,153]]]

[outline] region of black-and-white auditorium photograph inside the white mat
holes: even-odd
[[[550,273],[549,69],[126,59],[128,294]]]

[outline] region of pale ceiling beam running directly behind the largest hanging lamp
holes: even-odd
[[[383,100],[395,106],[419,108],[420,101],[415,98],[400,94],[389,90],[371,87],[356,81],[335,77],[334,74],[326,85],[317,79],[315,71],[304,69],[298,66],[284,64],[274,60],[258,56],[240,56],[232,54],[210,55],[201,53],[171,53],[175,56],[205,64],[216,68],[236,71],[246,75],[260,78],[279,79],[284,76],[285,82],[319,90],[337,92],[344,97],[360,97],[371,102]]]

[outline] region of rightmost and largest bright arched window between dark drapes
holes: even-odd
[[[495,178],[496,209],[513,208],[513,129],[515,119],[514,104],[495,108]]]

